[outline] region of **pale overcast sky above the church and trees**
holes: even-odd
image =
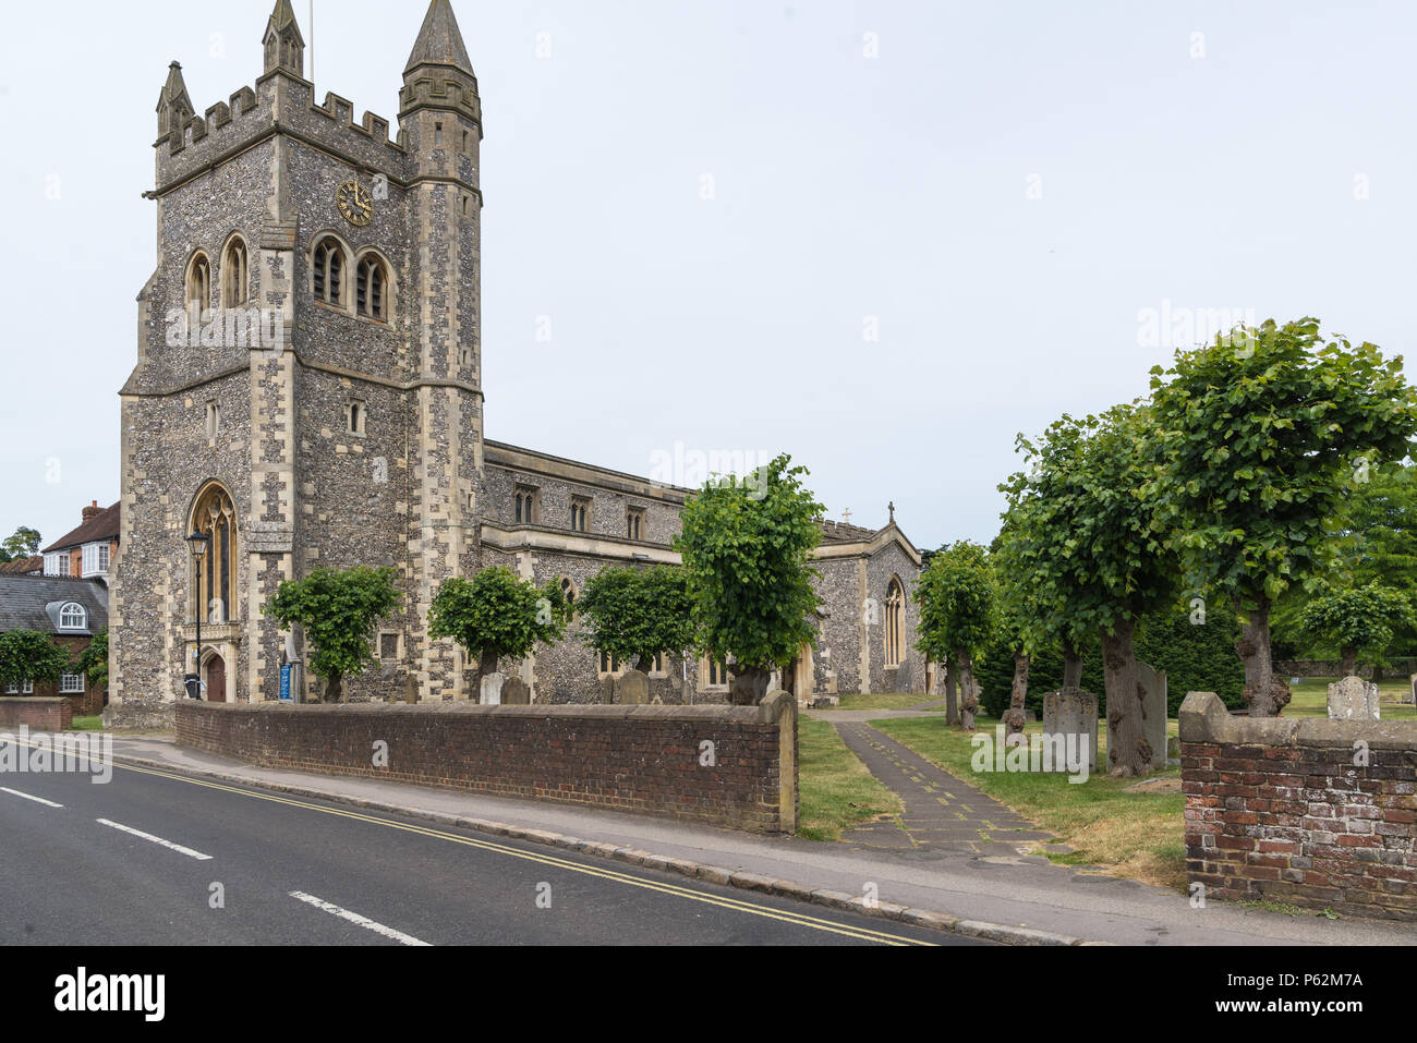
[[[174,58],[198,112],[254,84],[271,7],[10,13],[0,536],[118,499],[157,92]],[[455,10],[493,439],[642,475],[785,449],[829,516],[894,500],[935,547],[998,531],[1017,432],[1145,394],[1186,309],[1411,349],[1410,1]],[[317,98],[393,122],[424,11],[317,0]]]

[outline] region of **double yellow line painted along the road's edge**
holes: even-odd
[[[242,789],[239,787],[225,785],[224,782],[208,782],[204,779],[188,778],[187,775],[177,775],[169,771],[159,771],[156,768],[145,768],[136,764],[125,764],[118,758],[113,758],[113,764],[125,771],[135,771],[143,775],[154,775],[157,778],[169,778],[176,782],[186,782],[187,785],[204,787],[207,789],[220,789],[227,794],[237,794],[239,796],[248,796],[256,801],[271,801],[272,804],[283,804],[290,808],[302,808],[305,811],[317,811],[324,815],[337,815],[346,819],[354,819],[357,822],[368,822],[376,826],[387,826],[390,829],[401,829],[405,833],[419,833],[422,836],[432,836],[439,840],[451,840],[453,843],[466,845],[469,847],[478,847],[480,850],[493,852],[496,855],[506,855],[514,859],[521,859],[523,862],[534,862],[541,866],[551,866],[554,869],[564,869],[571,873],[580,873],[582,876],[598,877],[601,880],[611,880],[614,883],[628,884],[631,887],[640,887],[648,891],[659,891],[660,894],[670,894],[679,898],[689,898],[691,901],[701,901],[706,906],[717,906],[718,908],[731,910],[735,913],[747,913],[757,917],[764,917],[767,920],[779,920],[786,924],[794,924],[796,927],[808,927],[813,931],[823,931],[828,934],[839,934],[847,938],[856,938],[859,941],[870,941],[880,945],[932,945],[934,942],[918,941],[915,938],[905,938],[903,935],[888,934],[886,931],[873,931],[867,927],[850,927],[847,924],[833,923],[830,920],[822,920],[820,917],[811,917],[803,913],[785,913],[782,910],[772,908],[769,906],[762,906],[755,901],[744,901],[741,898],[728,898],[718,894],[710,894],[707,891],[694,890],[691,887],[682,887],[679,884],[670,884],[660,880],[649,880],[646,877],[633,876],[631,873],[621,873],[612,869],[601,869],[597,866],[582,866],[578,862],[571,862],[568,859],[557,857],[554,855],[544,855],[540,852],[524,852],[517,847],[510,847],[503,843],[496,843],[493,840],[482,840],[479,838],[461,836],[458,833],[449,833],[442,829],[434,829],[431,826],[410,825],[407,822],[394,822],[393,819],[383,819],[374,815],[363,815],[356,811],[344,811],[343,808],[323,808],[317,804],[309,804],[306,801],[296,801],[289,796],[276,796],[273,794],[259,794],[251,789]]]

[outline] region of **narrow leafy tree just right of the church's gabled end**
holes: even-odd
[[[979,703],[972,697],[973,660],[998,625],[998,591],[989,551],[961,540],[930,560],[915,584],[920,639],[915,646],[935,662],[949,663],[945,679],[945,723],[973,730]],[[962,684],[962,700],[955,693]]]

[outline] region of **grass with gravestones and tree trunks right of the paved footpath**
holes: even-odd
[[[998,721],[979,717],[979,733],[993,734]],[[1041,829],[1074,847],[1071,855],[1050,856],[1064,864],[1104,866],[1115,876],[1128,876],[1178,891],[1186,887],[1186,847],[1182,811],[1186,798],[1166,792],[1125,792],[1138,779],[1111,779],[1091,775],[1087,782],[1068,782],[1061,774],[975,772],[971,735],[945,726],[944,718],[901,717],[873,721],[900,743],[945,771],[979,787]],[[1176,721],[1169,721],[1170,734]],[[1041,724],[1024,731],[1036,734]],[[1107,762],[1107,726],[1098,726],[1098,767]],[[978,733],[976,733],[978,734]],[[1179,768],[1155,772],[1149,778],[1176,778]]]

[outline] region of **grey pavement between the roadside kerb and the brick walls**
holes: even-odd
[[[836,721],[839,713],[826,717]],[[1175,891],[1110,877],[1095,867],[1056,866],[1032,855],[1029,840],[990,842],[1003,846],[986,852],[955,849],[947,840],[890,850],[752,836],[554,802],[258,768],[177,747],[166,737],[115,737],[113,752],[120,762],[146,762],[184,777],[218,778],[239,787],[434,821],[642,869],[669,869],[691,877],[696,886],[731,883],[754,897],[801,898],[795,903],[799,908],[811,901],[854,910],[876,917],[877,925],[883,917],[897,925],[925,924],[939,935],[1063,945],[1417,944],[1417,931],[1397,923],[1288,915],[1217,901],[1193,908],[1186,896]],[[968,795],[956,796],[968,804]],[[996,812],[986,808],[981,813]],[[1005,825],[993,818],[989,822]],[[408,879],[418,886],[417,874]]]

